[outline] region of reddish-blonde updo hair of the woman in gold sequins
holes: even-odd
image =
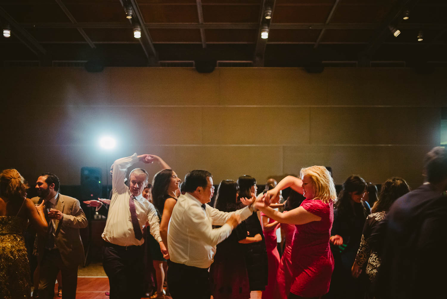
[[[15,169],[5,169],[0,173],[0,195],[10,199],[23,199],[29,188],[25,179]]]

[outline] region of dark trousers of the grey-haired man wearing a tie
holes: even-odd
[[[109,277],[110,299],[140,299],[143,294],[143,246],[126,247],[104,241],[102,259]]]

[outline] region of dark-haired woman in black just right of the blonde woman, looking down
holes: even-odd
[[[363,196],[367,184],[358,175],[349,176],[338,194],[334,207],[332,239],[340,240],[341,246],[332,246],[335,268],[332,275],[330,295],[334,298],[363,298],[366,288],[364,275],[357,279],[351,276],[351,267],[357,255],[363,225],[371,209]]]

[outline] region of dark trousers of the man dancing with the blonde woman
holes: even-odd
[[[169,292],[173,299],[210,299],[209,276],[208,268],[197,268],[169,261]]]

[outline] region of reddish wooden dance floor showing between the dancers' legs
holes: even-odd
[[[57,291],[58,289],[56,284],[55,297],[54,297],[55,299],[60,298],[57,296]],[[109,279],[107,277],[78,277],[76,299],[109,299],[109,296],[105,295],[105,292],[108,291],[109,291]],[[166,296],[165,298],[172,299],[169,296]],[[261,292],[260,291],[251,292],[251,299],[261,299]]]

